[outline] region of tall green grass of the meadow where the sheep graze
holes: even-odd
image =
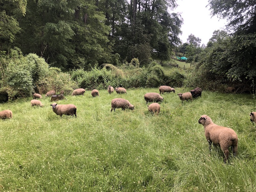
[[[99,90],[65,95],[77,118],[57,116],[50,98],[42,108],[31,98],[0,104],[13,118],[0,121],[0,191],[256,191],[256,111],[250,94],[202,92],[180,101],[176,88],[164,93],[158,116],[148,112],[144,94],[158,88]],[[134,110],[111,109],[111,100],[129,100]],[[201,115],[234,129],[238,154],[224,164],[220,148],[208,150]]]

